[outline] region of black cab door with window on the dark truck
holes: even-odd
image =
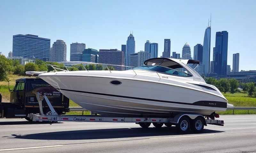
[[[10,102],[20,102],[22,103],[24,100],[25,94],[25,82],[16,82],[14,90],[11,92],[11,100]]]

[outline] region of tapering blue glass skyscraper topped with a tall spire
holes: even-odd
[[[203,44],[203,71],[204,75],[208,76],[210,72],[210,53],[211,53],[211,25],[204,32],[204,44]]]

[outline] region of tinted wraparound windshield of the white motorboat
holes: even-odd
[[[159,73],[164,73],[164,74],[168,74],[168,75],[173,75],[173,76],[180,76],[180,77],[192,77],[192,75],[182,72],[180,70],[177,69],[171,69],[171,68],[167,68],[164,66],[140,66],[140,67],[136,67],[133,69],[142,69],[142,70],[148,70],[148,71],[156,71]]]

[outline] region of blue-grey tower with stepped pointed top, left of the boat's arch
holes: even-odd
[[[132,33],[129,35],[126,41],[126,65],[130,66],[130,54],[135,53],[135,40]]]

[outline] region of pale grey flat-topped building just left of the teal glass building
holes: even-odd
[[[84,43],[70,44],[70,61],[82,61],[83,51],[85,49]]]

